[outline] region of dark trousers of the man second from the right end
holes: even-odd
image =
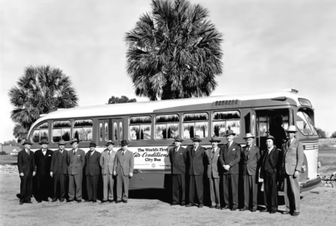
[[[268,211],[278,210],[278,186],[275,172],[263,172],[264,202]]]

